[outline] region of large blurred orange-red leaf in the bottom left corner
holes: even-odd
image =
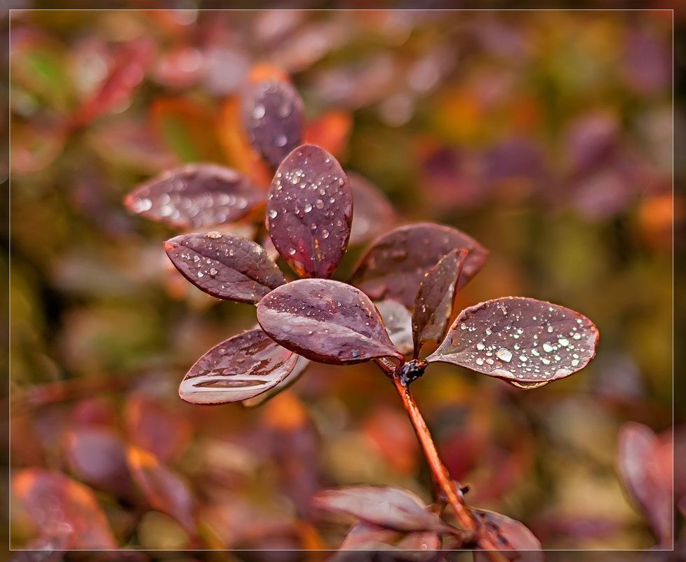
[[[74,533],[76,549],[116,549],[107,518],[87,486],[58,472],[27,468],[13,476],[12,490],[44,537]]]

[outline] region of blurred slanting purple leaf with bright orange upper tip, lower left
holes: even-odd
[[[161,464],[155,455],[138,447],[129,447],[126,459],[133,479],[150,506],[172,516],[194,535],[194,499],[181,476]]]

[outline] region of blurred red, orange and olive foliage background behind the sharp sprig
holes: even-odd
[[[349,521],[309,504],[328,486],[432,501],[410,423],[371,365],[313,364],[259,408],[178,399],[189,366],[255,311],[170,270],[162,241],[175,233],[122,199],[184,162],[253,173],[236,108],[267,62],[400,222],[452,225],[490,250],[458,310],[522,295],[600,330],[591,365],[541,389],[440,364],[415,382],[468,500],[547,549],[655,544],[616,464],[626,422],[668,434],[673,399],[677,425],[686,406],[672,379],[685,208],[672,192],[684,164],[670,11],[13,11],[6,25],[14,476],[85,486],[95,504],[79,516],[132,549],[335,548]],[[13,547],[60,521],[54,498],[43,524],[30,516],[26,490],[43,484],[15,478]]]

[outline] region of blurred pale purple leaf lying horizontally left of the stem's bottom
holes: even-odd
[[[390,486],[351,486],[322,490],[313,497],[315,507],[348,514],[386,529],[450,531],[438,515],[427,511],[409,490]]]

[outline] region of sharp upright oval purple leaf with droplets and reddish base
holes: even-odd
[[[300,277],[330,277],[345,253],[353,199],[336,159],[302,145],[276,170],[267,201],[274,246]]]

